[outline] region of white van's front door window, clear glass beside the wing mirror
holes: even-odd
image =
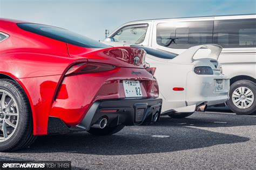
[[[115,42],[126,42],[128,44],[140,44],[144,41],[147,24],[126,26],[118,30],[112,38]]]

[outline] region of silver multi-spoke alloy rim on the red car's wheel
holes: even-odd
[[[0,142],[9,139],[17,129],[19,112],[15,98],[0,89]]]

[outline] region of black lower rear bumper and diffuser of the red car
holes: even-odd
[[[61,119],[50,117],[48,133],[68,133],[74,130],[89,131],[91,126],[102,119],[107,119],[106,126],[120,124],[141,125],[159,121],[162,100],[158,98],[122,100],[100,100],[92,104],[83,120],[77,126],[67,126]]]

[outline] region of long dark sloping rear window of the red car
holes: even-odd
[[[32,24],[32,23],[18,23],[18,27],[25,31],[39,34],[44,37],[56,39],[68,44],[86,47],[86,48],[109,48],[110,46],[102,42],[87,38],[75,32],[62,29],[55,26]]]

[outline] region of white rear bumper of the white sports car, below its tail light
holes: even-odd
[[[223,80],[224,84],[221,91],[215,91],[216,80]],[[184,91],[186,98],[184,101],[177,102],[163,100],[162,114],[166,114],[166,112],[194,112],[201,104],[211,106],[225,103],[229,98],[229,90],[230,79],[224,75],[198,75],[190,72],[187,74],[186,89]],[[171,105],[172,108],[170,108]]]

